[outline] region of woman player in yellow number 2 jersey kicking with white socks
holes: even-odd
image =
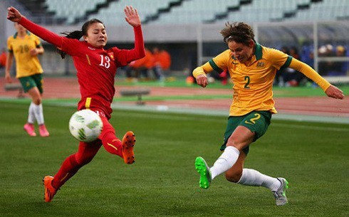
[[[202,157],[197,157],[195,168],[200,175],[199,186],[208,189],[212,179],[225,172],[228,181],[271,189],[276,205],[285,205],[286,179],[244,169],[249,144],[266,132],[271,115],[276,113],[272,92],[276,71],[287,67],[298,70],[316,82],[328,97],[343,99],[343,92],[305,63],[256,43],[254,31],[246,23],[226,23],[221,34],[229,49],[193,71],[197,84],[203,88],[208,85],[206,74],[212,70],[228,70],[234,83],[233,102],[221,147],[224,152],[210,168]]]

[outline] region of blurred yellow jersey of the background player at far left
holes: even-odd
[[[38,56],[30,54],[33,48],[39,47],[40,39],[28,31],[24,38],[19,38],[16,33],[7,39],[7,49],[16,59],[16,78],[43,73]]]

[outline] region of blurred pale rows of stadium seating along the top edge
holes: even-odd
[[[123,24],[120,9],[142,10],[147,23],[219,23],[226,20],[338,21],[349,18],[348,0],[17,0],[41,23],[77,24],[90,17]],[[54,21],[53,21],[54,20]]]

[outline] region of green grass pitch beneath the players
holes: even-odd
[[[194,159],[219,157],[226,117],[115,110],[118,136],[136,134],[135,164],[102,148],[44,203],[41,179],[78,147],[75,107],[44,106],[47,138],[25,134],[27,108],[0,103],[0,216],[349,216],[349,125],[274,120],[251,144],[245,167],[289,181],[289,203],[277,207],[268,189],[224,176],[199,189]]]

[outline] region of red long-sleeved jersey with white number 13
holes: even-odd
[[[142,28],[140,26],[134,28],[134,49],[113,47],[105,50],[95,48],[85,41],[58,36],[24,17],[19,23],[36,36],[72,56],[80,85],[81,100],[78,103],[78,110],[84,109],[89,103],[89,107],[99,107],[101,112],[105,112],[110,118],[117,68],[145,56]]]

